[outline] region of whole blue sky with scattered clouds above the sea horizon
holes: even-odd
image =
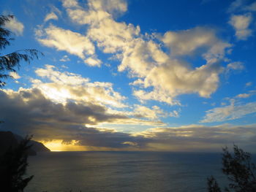
[[[256,1],[0,0],[44,54],[0,90],[0,130],[50,150],[256,152]]]

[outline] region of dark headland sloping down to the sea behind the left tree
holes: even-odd
[[[0,155],[4,154],[10,147],[18,146],[18,143],[23,139],[11,131],[0,131]],[[28,155],[37,155],[37,152],[50,152],[48,147],[45,147],[41,142],[31,140],[29,143],[31,148],[28,150]]]

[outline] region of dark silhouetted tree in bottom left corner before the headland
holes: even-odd
[[[25,177],[28,166],[28,150],[31,148],[31,137],[23,139],[18,147],[10,146],[0,157],[0,191],[23,192],[34,177]]]

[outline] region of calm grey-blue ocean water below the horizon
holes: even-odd
[[[26,192],[203,192],[225,183],[219,153],[50,152],[29,157]]]

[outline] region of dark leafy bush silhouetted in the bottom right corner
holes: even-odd
[[[226,192],[256,192],[255,164],[251,162],[251,154],[233,146],[233,154],[227,147],[222,153],[222,172],[230,181]],[[208,178],[208,192],[221,192],[214,177]]]

